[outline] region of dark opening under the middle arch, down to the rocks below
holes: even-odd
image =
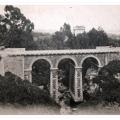
[[[74,76],[75,63],[69,58],[62,59],[58,64],[58,98],[59,101],[64,101],[70,105],[73,99],[74,91]],[[71,94],[72,93],[72,94]]]

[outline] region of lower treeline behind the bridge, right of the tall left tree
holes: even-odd
[[[75,36],[71,31],[71,26],[66,23],[49,37],[47,35],[43,38],[40,35],[35,42],[38,49],[93,49],[96,46],[120,46],[120,40],[108,37],[100,27]]]

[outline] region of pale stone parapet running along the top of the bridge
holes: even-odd
[[[115,53],[120,52],[120,47],[111,47],[111,48],[97,48],[97,49],[69,49],[69,50],[4,50],[0,51],[0,54],[8,55],[60,55],[60,54],[84,54],[84,53]]]

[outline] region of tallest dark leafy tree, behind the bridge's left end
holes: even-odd
[[[0,44],[10,48],[35,49],[31,34],[34,24],[17,7],[6,5],[4,11],[4,16],[0,15]]]

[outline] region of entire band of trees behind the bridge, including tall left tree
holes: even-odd
[[[96,46],[120,46],[119,40],[108,37],[102,28],[92,28],[75,36],[71,26],[64,23],[54,34],[37,34],[35,39],[34,24],[26,18],[19,8],[6,5],[4,15],[0,15],[0,46],[26,49],[89,49]],[[47,36],[47,37],[46,37]]]

